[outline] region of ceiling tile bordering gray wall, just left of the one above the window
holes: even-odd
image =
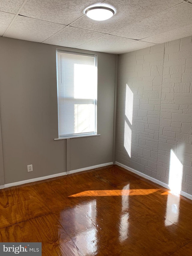
[[[17,16],[5,36],[27,41],[42,42],[62,28],[64,28],[64,25]]]

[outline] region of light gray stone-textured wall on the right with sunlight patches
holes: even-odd
[[[167,184],[172,149],[192,194],[192,37],[119,56],[116,145],[117,162]]]

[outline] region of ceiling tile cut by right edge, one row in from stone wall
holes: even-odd
[[[111,34],[139,40],[188,25],[191,22],[192,5],[183,3]]]

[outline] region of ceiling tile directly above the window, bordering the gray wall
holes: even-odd
[[[80,44],[84,44],[102,35],[103,34],[101,33],[85,29],[66,27],[49,39],[45,40],[44,43],[66,47],[77,47]]]

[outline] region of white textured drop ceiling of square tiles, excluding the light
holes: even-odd
[[[115,15],[95,21],[91,5]],[[192,35],[192,0],[1,0],[0,36],[121,54]]]

